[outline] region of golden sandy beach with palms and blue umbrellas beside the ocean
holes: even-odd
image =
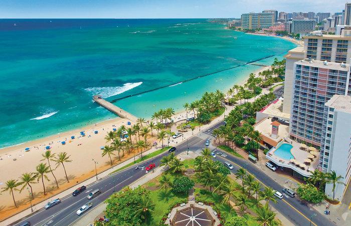
[[[258,74],[260,71],[268,68],[269,67],[261,67],[255,73]],[[243,85],[247,78],[248,74],[242,81],[236,84]],[[177,112],[172,119],[174,122],[179,122],[186,120],[186,116],[187,114],[184,110]],[[192,116],[193,112],[188,112],[188,117]],[[0,170],[1,172],[7,172],[2,173],[0,176],[0,186],[3,187],[4,183],[10,179],[18,179],[23,173],[35,172],[35,167],[42,162],[47,163],[47,161],[41,162],[43,159],[42,154],[45,152],[45,147],[50,146],[52,153],[58,154],[60,152],[67,152],[68,155],[70,155],[72,162],[65,164],[70,183],[67,183],[65,179],[62,166],[59,166],[56,170],[54,170],[54,174],[59,182],[60,188],[56,189],[55,180],[52,174],[47,174],[50,180],[45,181],[48,193],[45,196],[43,195],[43,185],[41,181],[37,184],[33,184],[32,187],[35,197],[33,203],[38,203],[41,200],[54,196],[65,189],[74,187],[75,184],[95,175],[95,165],[92,159],[98,162],[98,172],[102,172],[110,168],[109,157],[101,157],[100,147],[106,145],[104,137],[113,128],[118,128],[122,125],[126,127],[133,125],[127,126],[127,122],[127,119],[115,118],[40,140],[30,141],[24,144],[0,149]],[[172,130],[174,131],[176,127],[177,126],[174,126]],[[80,135],[81,131],[85,132],[86,135],[84,137]],[[95,134],[94,131],[98,131],[98,133]],[[71,139],[71,136],[75,136],[75,139]],[[155,140],[156,138],[149,138],[148,143],[152,143]],[[65,141],[66,144],[62,145],[62,141]],[[30,148],[30,151],[26,152],[26,148]],[[118,161],[117,154],[113,157],[114,165],[116,165],[127,160],[128,158],[131,158],[132,154],[129,156],[125,155],[123,158],[121,158],[121,161]],[[54,166],[55,162],[51,162],[51,164]],[[18,205],[27,203],[29,201],[28,197],[27,189],[24,189],[21,193],[15,191],[15,199]],[[28,204],[22,205],[22,207],[16,209],[12,196],[9,195],[9,193],[3,193],[3,195],[0,196],[0,200],[2,203],[0,206],[0,220],[14,214],[17,211],[20,211],[25,206],[28,206]]]

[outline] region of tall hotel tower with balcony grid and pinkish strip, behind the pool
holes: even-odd
[[[324,103],[334,94],[351,95],[350,66],[311,59],[295,62],[293,71],[290,138],[320,147]]]

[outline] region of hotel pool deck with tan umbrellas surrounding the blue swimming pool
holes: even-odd
[[[291,142],[292,142],[292,144],[291,144],[292,149],[290,150],[291,154],[294,156],[295,161],[306,165],[305,169],[301,169],[300,167],[297,167],[294,164],[290,163],[289,160],[283,159],[283,158],[274,154],[274,152],[279,148],[279,146],[281,144],[284,144],[284,143],[289,144],[288,142],[285,142],[285,141],[281,142],[277,146],[277,148],[274,147],[269,152],[267,152],[266,158],[269,159],[270,161],[274,162],[278,166],[290,168],[290,169],[296,171],[297,173],[301,174],[302,176],[310,177],[312,175],[311,171],[314,171],[315,169],[318,168],[319,153],[315,158],[313,158],[313,161],[309,165],[307,165],[306,163],[304,163],[304,160],[307,159],[307,157],[310,155],[310,153],[308,151],[301,150],[300,143],[297,143],[295,141],[291,141]]]

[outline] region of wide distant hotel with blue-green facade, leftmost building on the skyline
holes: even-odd
[[[241,15],[243,29],[262,29],[272,27],[275,23],[273,13],[249,13]]]

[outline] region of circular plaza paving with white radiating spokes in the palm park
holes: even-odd
[[[215,220],[207,209],[189,207],[175,213],[171,225],[174,226],[212,226]]]

